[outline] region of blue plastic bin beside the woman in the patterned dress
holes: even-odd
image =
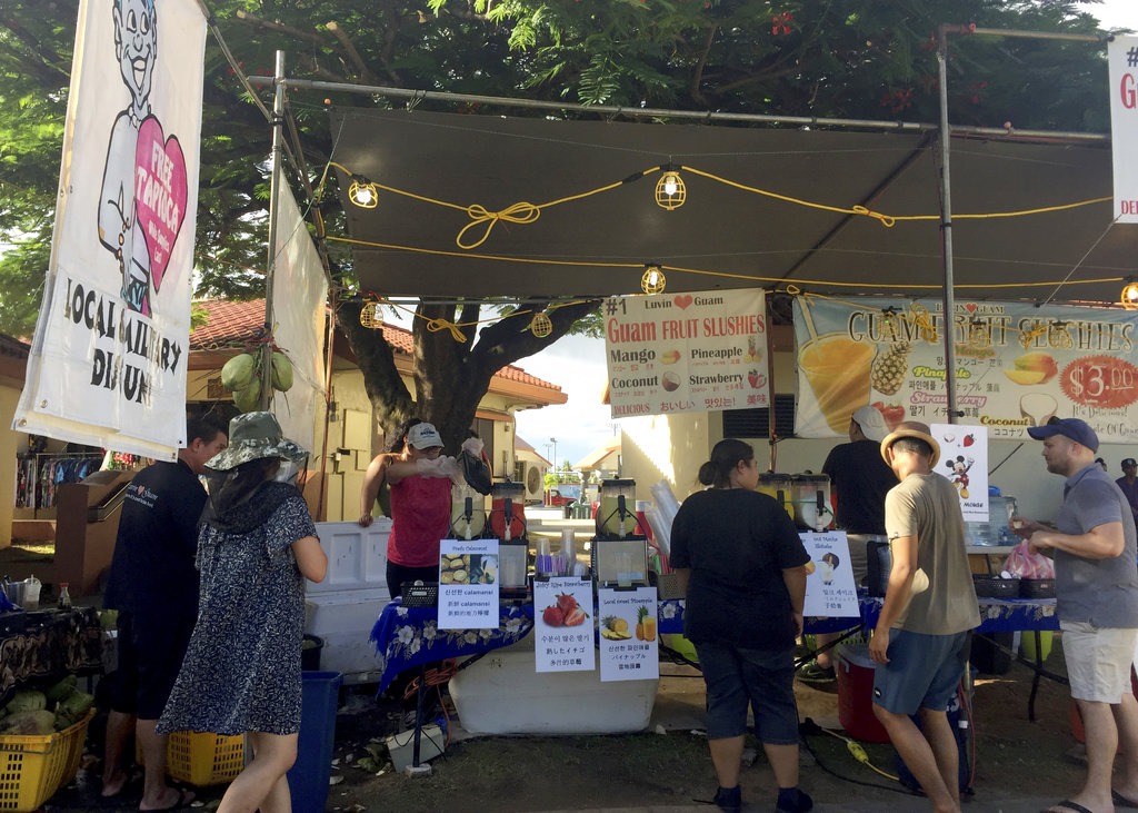
[[[332,770],[332,746],[336,741],[336,706],[344,675],[339,672],[305,672],[300,705],[300,737],[296,762],[288,772],[292,810],[324,810],[328,779]]]

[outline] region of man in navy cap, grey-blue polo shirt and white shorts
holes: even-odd
[[[1135,520],[1122,492],[1095,462],[1098,436],[1078,418],[1052,418],[1028,429],[1044,442],[1047,470],[1063,475],[1063,507],[1053,529],[1013,517],[1013,529],[1034,553],[1053,550],[1055,598],[1071,697],[1087,733],[1082,789],[1048,810],[1089,813],[1138,807],[1138,703],[1130,664],[1138,640]],[[1122,745],[1125,770],[1111,787]]]

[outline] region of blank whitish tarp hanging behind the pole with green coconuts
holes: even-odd
[[[313,458],[316,422],[323,426],[324,335],[328,281],[316,247],[288,184],[280,184],[273,262],[273,340],[292,362],[292,388],[273,394],[273,413],[286,437]]]

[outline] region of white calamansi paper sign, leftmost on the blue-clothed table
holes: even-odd
[[[497,629],[497,540],[439,542],[439,630]]]

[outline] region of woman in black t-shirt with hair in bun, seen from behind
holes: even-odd
[[[707,684],[715,803],[742,807],[740,758],[748,705],[778,782],[777,810],[814,806],[798,789],[794,639],[802,632],[809,556],[786,511],[754,491],[754,451],[723,440],[700,467],[711,488],[692,494],[671,525],[671,564],[684,585],[684,634]]]

